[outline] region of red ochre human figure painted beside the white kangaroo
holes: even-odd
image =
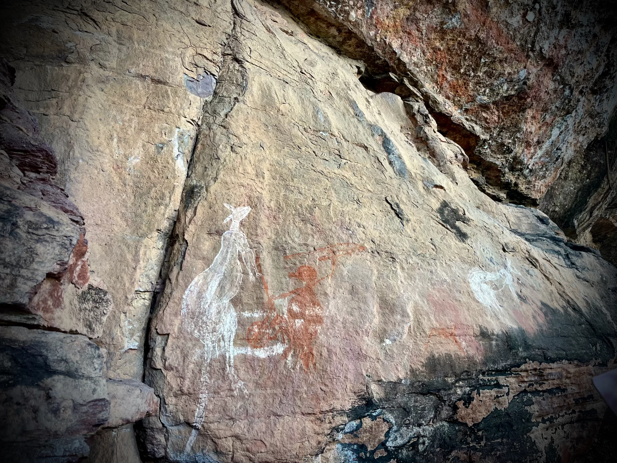
[[[340,249],[340,248],[343,249]],[[318,261],[331,261],[331,269],[328,275],[318,278],[318,273],[312,265],[300,265],[296,272],[288,273],[289,278],[299,280],[302,286],[278,296],[268,294],[268,284],[263,277],[259,256],[256,264],[259,273],[262,275],[263,289],[268,298],[268,313],[265,319],[253,323],[247,330],[247,340],[254,348],[263,347],[268,341],[280,339],[287,347],[283,351],[283,357],[296,357],[302,363],[305,371],[310,367],[315,369],[315,352],[313,351],[313,341],[317,337],[319,327],[323,324],[323,307],[315,294],[315,286],[331,277],[336,267],[338,257],[349,256],[357,251],[364,251],[364,246],[357,244],[343,243],[333,244],[326,248],[316,249],[315,251],[285,256],[284,259],[298,257],[302,255],[320,252],[323,255],[318,257]],[[291,298],[288,302],[287,316],[276,313],[274,301],[276,299]]]

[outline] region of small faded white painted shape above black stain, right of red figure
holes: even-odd
[[[503,307],[497,300],[497,293],[508,286],[510,292],[516,298],[513,273],[520,275],[508,259],[507,268],[501,269],[499,272],[486,272],[486,270],[476,268],[471,269],[468,275],[473,295],[476,296],[478,302],[490,309],[492,315],[495,315],[498,320],[502,319]],[[499,283],[501,283],[501,287],[499,287]]]

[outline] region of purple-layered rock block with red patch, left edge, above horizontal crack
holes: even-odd
[[[94,337],[112,302],[88,284],[83,217],[54,183],[56,155],[20,105],[14,80],[15,69],[1,60],[0,319]]]

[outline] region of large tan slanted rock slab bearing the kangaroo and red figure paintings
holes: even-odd
[[[420,104],[366,91],[281,10],[234,18],[152,321],[150,455],[576,456],[605,410],[614,267],[480,193]],[[224,225],[223,203],[251,211]]]

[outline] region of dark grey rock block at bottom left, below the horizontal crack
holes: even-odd
[[[104,359],[85,336],[0,327],[6,461],[78,461],[109,419]]]

